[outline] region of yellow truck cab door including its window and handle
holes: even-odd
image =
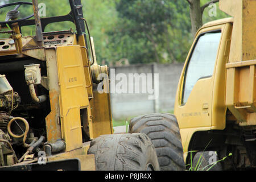
[[[181,129],[212,125],[214,70],[221,45],[221,28],[200,31],[189,52],[177,92],[179,103],[175,103]]]

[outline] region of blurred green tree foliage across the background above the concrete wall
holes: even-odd
[[[20,0],[4,0],[3,3]],[[30,0],[27,0],[31,2]],[[81,0],[90,34],[94,37],[98,63],[115,64],[122,60],[134,63],[183,62],[191,46],[191,19],[186,0]],[[68,0],[39,0],[46,5],[46,16],[65,15]],[[209,0],[201,0],[201,4]],[[7,11],[0,10],[0,20]],[[226,17],[218,10],[209,16],[205,7],[203,23]],[[22,6],[20,16],[32,14],[32,7]],[[46,31],[75,29],[72,23],[50,24]],[[34,35],[34,27],[24,27],[23,36]]]

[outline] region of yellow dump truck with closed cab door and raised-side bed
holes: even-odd
[[[233,18],[204,24],[188,53],[175,101],[184,160],[212,169],[256,167],[256,1],[220,0]],[[208,159],[208,160],[207,160]]]

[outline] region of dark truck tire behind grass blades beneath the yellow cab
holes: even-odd
[[[209,155],[209,152],[214,152],[214,151],[204,151],[204,152],[197,152],[196,155],[194,156],[193,158],[193,163],[192,163],[192,167],[194,170],[197,170],[197,171],[201,171],[201,170],[204,170],[204,171],[207,171],[207,169],[209,169],[212,165],[209,166],[209,159],[210,159],[210,155]],[[201,159],[200,159],[200,156],[201,156]],[[216,156],[216,161],[218,161],[218,156]],[[200,159],[200,161],[199,161]],[[195,169],[196,167],[196,164],[197,163],[201,163],[200,167],[197,167],[197,169]],[[208,167],[207,167],[208,166]],[[206,168],[205,168],[206,167]],[[205,168],[205,169],[204,169]],[[216,165],[214,165],[212,168],[209,169],[209,171],[222,171],[222,166],[221,166],[221,163],[218,162]]]

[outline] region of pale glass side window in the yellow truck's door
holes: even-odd
[[[213,75],[220,38],[221,32],[211,32],[201,35],[197,40],[185,72],[183,105],[186,104],[196,82]]]

